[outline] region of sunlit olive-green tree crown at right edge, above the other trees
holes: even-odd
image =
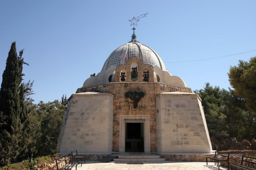
[[[228,77],[235,94],[245,98],[247,108],[256,113],[256,57],[250,62],[240,60],[238,66],[230,67]]]

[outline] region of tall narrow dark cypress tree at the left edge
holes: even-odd
[[[21,72],[16,52],[16,42],[6,60],[0,90],[0,164],[1,166],[15,162],[21,150],[20,96],[18,87]]]

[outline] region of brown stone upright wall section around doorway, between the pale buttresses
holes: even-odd
[[[144,91],[145,96],[134,108],[134,101],[125,98],[127,91]],[[155,86],[149,84],[114,84],[113,151],[119,152],[120,115],[149,115],[150,152],[156,152]]]

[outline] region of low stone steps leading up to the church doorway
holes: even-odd
[[[114,159],[116,164],[157,164],[166,162],[158,154],[121,154]]]

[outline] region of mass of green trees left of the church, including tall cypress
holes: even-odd
[[[0,166],[53,154],[67,98],[33,103],[33,81],[23,82],[23,50],[12,43],[0,89]]]

